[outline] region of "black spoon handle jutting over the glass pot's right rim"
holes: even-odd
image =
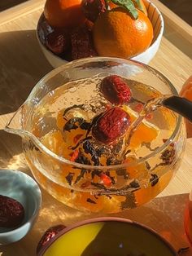
[[[163,105],[174,112],[181,114],[182,117],[192,121],[192,101],[178,96],[172,96],[164,99]]]

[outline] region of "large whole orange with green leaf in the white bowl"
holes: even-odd
[[[131,58],[151,45],[151,20],[142,11],[137,11],[137,20],[122,7],[98,16],[93,29],[94,46],[98,55]]]

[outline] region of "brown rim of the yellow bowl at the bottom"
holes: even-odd
[[[166,245],[168,247],[168,249],[170,250],[170,252],[172,252],[172,256],[177,256],[177,251],[174,249],[174,247],[163,237],[160,236],[158,234],[158,232],[155,232],[155,230],[151,227],[147,227],[146,225],[142,224],[142,223],[138,223],[136,221],[133,221],[129,218],[120,218],[120,217],[98,217],[98,218],[88,218],[85,219],[81,222],[77,222],[75,224],[72,224],[69,227],[65,227],[62,231],[60,231],[59,233],[57,233],[53,238],[50,239],[50,241],[48,241],[46,243],[46,245],[44,245],[40,251],[38,252],[37,256],[43,256],[43,254],[46,253],[46,250],[50,248],[50,246],[61,236],[63,236],[64,234],[66,234],[67,232],[72,231],[73,229],[75,229],[76,227],[81,227],[81,226],[85,226],[87,224],[90,223],[99,223],[99,222],[117,222],[117,223],[129,223],[131,224],[133,227],[139,227],[142,228],[143,230],[145,230],[146,232],[150,232],[151,235],[155,236],[159,242],[163,243],[164,245]]]

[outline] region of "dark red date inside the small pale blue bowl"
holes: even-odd
[[[0,227],[16,227],[23,219],[23,205],[11,197],[0,195]]]

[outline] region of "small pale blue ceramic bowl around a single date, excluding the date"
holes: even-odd
[[[24,220],[19,227],[0,227],[0,245],[20,241],[33,227],[41,208],[41,191],[37,183],[19,170],[0,170],[0,194],[24,206]]]

